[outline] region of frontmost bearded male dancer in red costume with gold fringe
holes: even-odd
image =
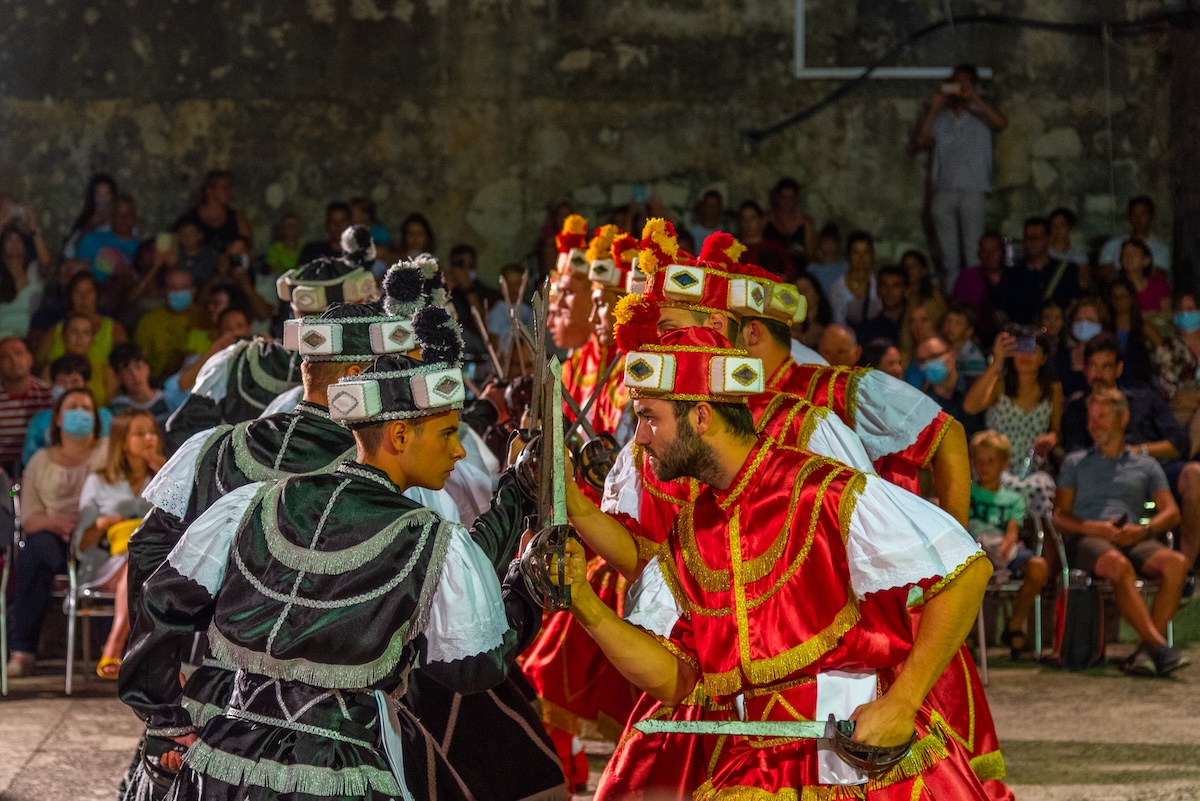
[[[916,495],[773,435],[786,428],[776,418],[793,414],[786,403],[758,433],[745,398],[763,389],[762,362],[712,330],[672,331],[631,350],[625,375],[636,442],[656,477],[695,478],[698,492],[643,573],[629,614],[638,626],[598,602],[572,547],[576,619],[664,704],[680,703],[702,679],[704,693],[739,704],[745,719],[834,713],[857,721],[856,740],[878,746],[917,735],[908,755],[876,776],[823,741],[706,737],[696,797],[986,797],[924,701],[990,574],[971,537]],[[624,528],[571,488],[568,513],[584,540]],[[914,588],[925,597],[916,631],[905,603]]]

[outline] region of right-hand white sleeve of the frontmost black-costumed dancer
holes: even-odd
[[[487,556],[456,524],[425,627],[427,662],[456,662],[499,648],[509,620]]]

